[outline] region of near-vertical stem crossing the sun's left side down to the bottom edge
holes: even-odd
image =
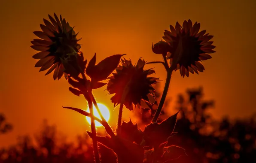
[[[88,98],[88,95],[84,94],[85,99],[88,102],[88,106],[89,106],[89,110],[90,110],[90,114],[91,114],[91,134],[92,134],[92,145],[93,145],[93,150],[94,150],[94,157],[95,157],[95,163],[101,163],[100,161],[100,155],[99,155],[99,151],[98,151],[98,144],[96,141],[96,127],[95,127],[95,121],[93,118],[93,107],[92,107],[92,102],[91,99]]]

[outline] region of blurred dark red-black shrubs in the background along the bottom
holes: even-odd
[[[208,113],[213,106],[213,100],[204,100],[202,88],[188,89],[186,94],[177,96],[176,109],[181,109],[175,130],[177,133],[168,143],[185,148],[187,156],[171,163],[255,163],[255,116],[217,121]],[[166,106],[163,111],[168,109]],[[135,112],[136,116],[139,116],[138,113]],[[168,117],[162,112],[161,117],[165,116]],[[144,117],[138,126],[148,123]],[[100,144],[99,152],[102,163],[117,163],[116,155],[109,148]],[[34,139],[21,136],[16,145],[0,150],[0,163],[46,162],[94,163],[91,139],[84,134],[77,136],[76,142],[67,142],[63,136],[59,136],[54,125],[44,121],[41,132]]]

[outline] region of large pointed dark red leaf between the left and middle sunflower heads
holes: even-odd
[[[107,79],[107,77],[116,69],[121,57],[125,54],[115,54],[110,57],[101,60],[97,65],[96,63],[96,53],[94,57],[88,63],[85,70],[86,74],[91,78],[92,81],[102,81]]]

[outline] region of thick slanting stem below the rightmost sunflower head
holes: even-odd
[[[155,112],[155,115],[152,119],[152,122],[156,122],[160,113],[161,113],[161,110],[162,110],[162,107],[164,106],[164,103],[165,103],[165,98],[167,96],[167,93],[168,93],[168,89],[169,89],[169,85],[170,85],[170,82],[171,82],[171,74],[172,74],[173,70],[171,68],[168,69],[167,71],[167,77],[166,77],[166,81],[165,81],[165,88],[164,88],[164,91],[163,91],[163,94],[162,94],[162,97],[161,97],[161,100],[160,100],[160,103],[158,105],[158,108]]]

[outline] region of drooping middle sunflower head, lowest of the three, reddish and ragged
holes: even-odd
[[[115,94],[111,97],[114,106],[121,103],[124,91],[126,91],[124,106],[132,110],[134,106],[140,104],[141,100],[145,103],[151,103],[150,97],[155,98],[155,89],[152,87],[158,78],[148,77],[155,73],[152,69],[144,70],[145,61],[139,59],[134,66],[131,60],[121,59],[122,66],[116,68],[113,76],[109,77],[107,90],[109,94]]]

